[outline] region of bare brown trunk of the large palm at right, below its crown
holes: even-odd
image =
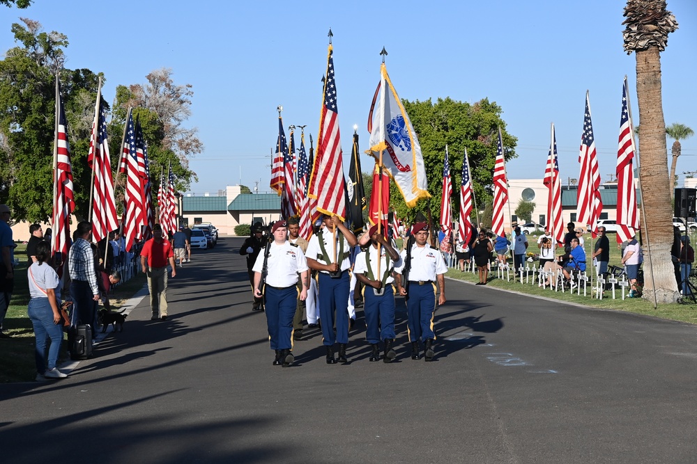
[[[666,163],[666,122],[658,47],[636,51],[636,93],[641,126],[641,202],[652,257],[651,260],[645,259],[643,264],[643,297],[653,301],[655,293],[659,303],[674,303],[680,294],[671,259],[673,211]]]

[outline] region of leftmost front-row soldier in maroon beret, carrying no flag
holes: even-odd
[[[259,253],[254,270],[254,296],[266,297],[266,326],[271,349],[275,351],[273,365],[288,367],[293,358],[293,316],[298,299],[298,274],[300,274],[300,300],[307,298],[309,268],[300,247],[288,241],[288,223],[276,221],[271,225],[273,241],[268,255]],[[265,263],[266,261],[266,263]],[[266,266],[265,266],[266,264]],[[261,288],[261,272],[266,267],[266,282]]]

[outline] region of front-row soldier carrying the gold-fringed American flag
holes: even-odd
[[[319,317],[322,321],[322,344],[327,351],[327,364],[336,364],[334,344],[339,342],[339,362],[348,362],[348,269],[351,247],[358,240],[338,216],[325,214],[324,229],[309,239],[307,266],[319,271]],[[334,333],[336,324],[337,332]]]

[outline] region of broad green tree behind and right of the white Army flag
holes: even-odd
[[[470,177],[472,178],[477,206],[483,207],[491,199],[493,165],[496,161],[498,126],[503,131],[505,158],[516,157],[517,138],[508,134],[501,118],[503,109],[496,102],[484,98],[473,104],[457,102],[450,97],[420,102],[402,100],[404,108],[414,125],[426,166],[431,198],[420,200],[413,209],[408,209],[401,199],[396,186],[390,186],[390,199],[397,209],[397,216],[412,221],[415,214],[431,209],[434,223],[440,214],[441,188],[443,184],[443,161],[445,145],[450,153],[464,153],[467,148],[470,158]],[[454,174],[453,184],[459,185],[463,158],[452,156],[450,170]],[[455,195],[456,210],[459,209],[459,196]]]

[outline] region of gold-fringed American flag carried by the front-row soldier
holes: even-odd
[[[332,45],[330,44],[319,139],[317,141],[317,156],[314,160],[312,176],[309,179],[309,196],[317,199],[318,211],[339,216],[344,221],[346,218],[346,193],[332,54]]]

